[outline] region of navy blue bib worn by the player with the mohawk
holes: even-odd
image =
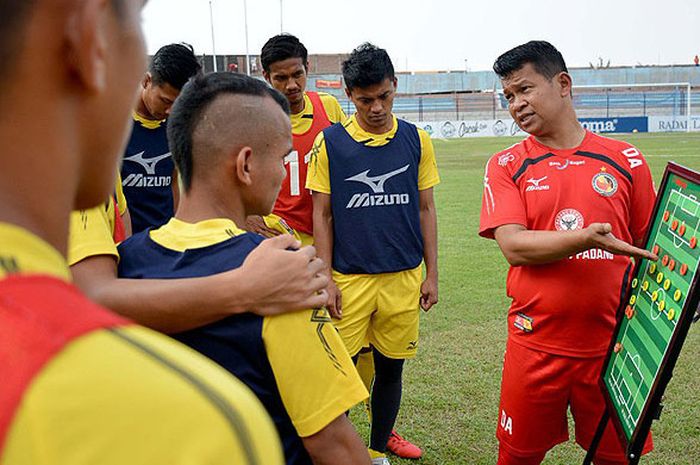
[[[221,273],[240,267],[263,241],[262,236],[245,233],[177,252],[154,242],[148,233],[135,234],[119,245],[120,278],[193,278]],[[256,394],[275,423],[288,465],[311,465],[278,390],[263,340],[263,321],[263,317],[243,313],[171,336],[214,360]]]

